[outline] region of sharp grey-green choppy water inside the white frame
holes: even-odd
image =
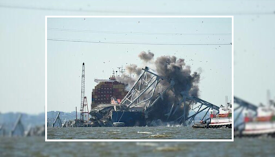
[[[48,139],[231,139],[232,129],[192,127],[67,127],[47,128]]]

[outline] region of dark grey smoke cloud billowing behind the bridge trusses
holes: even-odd
[[[197,72],[191,72],[190,66],[186,65],[184,59],[177,59],[176,56],[159,56],[154,60],[154,54],[152,52],[140,52],[138,55],[139,58],[144,61],[146,64],[142,65],[148,66],[151,69],[155,70],[155,72],[159,76],[164,76],[167,80],[160,81],[157,86],[155,96],[158,93],[163,92],[169,85],[169,81],[175,81],[175,85],[173,87],[173,91],[168,91],[164,94],[164,99],[158,101],[157,104],[154,105],[153,112],[150,112],[148,119],[150,121],[155,121],[156,119],[160,119],[161,121],[166,121],[167,114],[172,105],[175,103],[174,108],[178,105],[181,100],[181,92],[188,96],[196,96],[199,97],[199,81],[200,74]],[[126,74],[122,76],[116,77],[118,81],[128,85],[128,89],[130,89],[135,81],[138,79],[140,74],[142,73],[142,68],[137,67],[137,65],[129,65],[126,67],[126,72],[129,74],[135,74],[135,77],[129,77]],[[144,94],[146,96],[146,94]],[[159,99],[160,100],[160,99]],[[186,105],[188,103],[185,103]],[[184,107],[179,105],[179,109],[175,114],[169,118],[168,121],[175,121],[177,117],[183,114]],[[188,116],[189,106],[186,106],[186,117]]]

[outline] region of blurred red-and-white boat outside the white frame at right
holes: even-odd
[[[245,112],[244,127],[239,136],[275,136],[275,109],[261,105],[257,109],[257,116],[253,117]]]

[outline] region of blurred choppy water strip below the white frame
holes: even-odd
[[[67,143],[44,137],[0,137],[0,156],[274,156],[274,139],[243,138],[234,142]]]

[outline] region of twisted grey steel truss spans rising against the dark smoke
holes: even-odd
[[[120,103],[120,109],[125,111],[133,107],[144,107],[144,114],[145,116],[148,116],[148,113],[153,111],[153,105],[155,105],[155,103],[159,101],[159,98],[162,98],[163,100],[163,95],[168,90],[173,92],[173,86],[175,85],[175,82],[173,80],[168,80],[163,76],[155,74],[155,72],[153,72],[153,70],[151,70],[149,67],[145,67],[145,69],[142,70],[144,70],[144,72],[140,75],[139,79],[137,79],[133,87],[131,87],[131,90],[129,90],[128,94],[126,94],[126,96],[122,99],[122,102]],[[161,93],[156,94],[155,90],[160,81],[167,81],[169,83],[169,86],[166,87],[166,89],[162,89]],[[192,116],[188,116],[188,118],[186,118],[186,112],[189,111],[190,105],[197,103],[200,104],[197,106],[199,107],[197,112]],[[186,96],[184,92],[181,92],[181,100],[179,100],[178,103],[173,102],[173,105],[170,108],[170,112],[166,114],[167,121],[170,120],[170,117],[177,112],[181,105],[183,105],[184,107],[184,112],[175,121],[183,123],[184,125],[186,125],[186,121],[188,121],[188,125],[190,125],[190,123],[194,121],[195,116],[203,112],[205,109],[208,109],[208,111],[210,108],[215,109],[219,113],[219,107],[217,107],[216,105],[208,103],[207,101],[203,101],[200,98],[196,98],[194,96]],[[201,109],[201,107],[203,106],[206,107]],[[206,112],[206,114],[207,113],[208,112]],[[206,118],[206,114],[203,116],[203,119]],[[207,121],[208,119],[209,118],[207,118],[205,121]]]

